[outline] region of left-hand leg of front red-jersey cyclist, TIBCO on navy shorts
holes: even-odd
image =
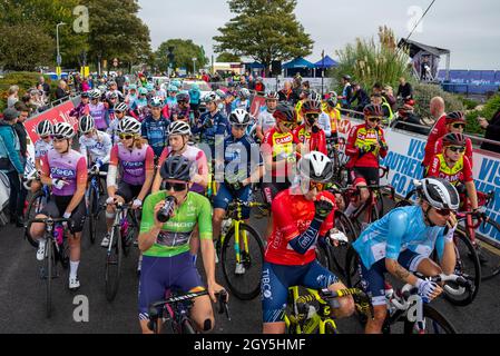
[[[261,295],[263,334],[284,334],[288,288],[297,285],[302,266],[280,266],[265,263],[262,268]]]

